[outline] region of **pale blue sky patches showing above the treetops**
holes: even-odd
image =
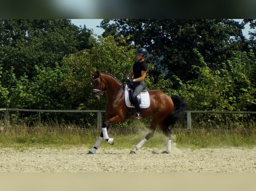
[[[104,32],[104,30],[101,28],[97,28],[96,26],[100,26],[100,23],[102,20],[103,19],[71,19],[71,22],[77,26],[84,27],[85,25],[86,28],[92,29],[95,34],[101,35]],[[234,19],[234,20],[241,22],[243,19]],[[245,29],[243,30],[243,34],[247,39],[249,38],[248,31],[251,31],[249,24],[247,24],[245,26]]]

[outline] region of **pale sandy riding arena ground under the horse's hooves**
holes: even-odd
[[[256,148],[0,148],[0,172],[256,172]]]

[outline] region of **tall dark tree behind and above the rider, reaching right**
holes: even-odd
[[[249,50],[243,25],[230,19],[104,19],[101,27],[104,36],[131,35],[129,43],[146,47],[152,55],[155,77],[166,74],[174,80],[175,75],[182,82],[197,79],[197,68],[192,66],[200,67],[200,62],[194,48],[212,70],[221,69],[222,62],[231,56],[230,49]]]

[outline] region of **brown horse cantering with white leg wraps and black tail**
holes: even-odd
[[[125,119],[134,119],[136,113],[135,108],[126,106],[124,85],[108,73],[96,74],[91,72],[93,79],[93,97],[99,99],[100,95],[106,94],[108,99],[106,105],[106,119],[102,126],[102,132],[97,139],[93,148],[88,152],[95,154],[99,148],[101,141],[105,139],[109,144],[114,144],[114,139],[109,138],[107,130],[110,125],[124,122]],[[146,136],[130,151],[135,153],[141,146],[151,137],[153,137],[156,126],[158,125],[167,137],[166,150],[162,153],[170,153],[171,151],[171,129],[170,125],[180,119],[185,110],[185,101],[178,95],[167,95],[161,91],[148,91],[150,97],[150,105],[147,108],[141,108],[142,119],[152,116],[152,122],[149,132]]]

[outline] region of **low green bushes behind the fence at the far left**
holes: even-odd
[[[59,97],[59,84],[63,80],[61,68],[56,64],[55,69],[40,68],[35,65],[37,76],[31,81],[24,75],[19,79],[13,73],[13,68],[6,71],[2,78],[3,87],[8,91],[8,104],[2,107],[55,109],[63,108],[65,97]],[[63,103],[64,102],[64,103]]]

